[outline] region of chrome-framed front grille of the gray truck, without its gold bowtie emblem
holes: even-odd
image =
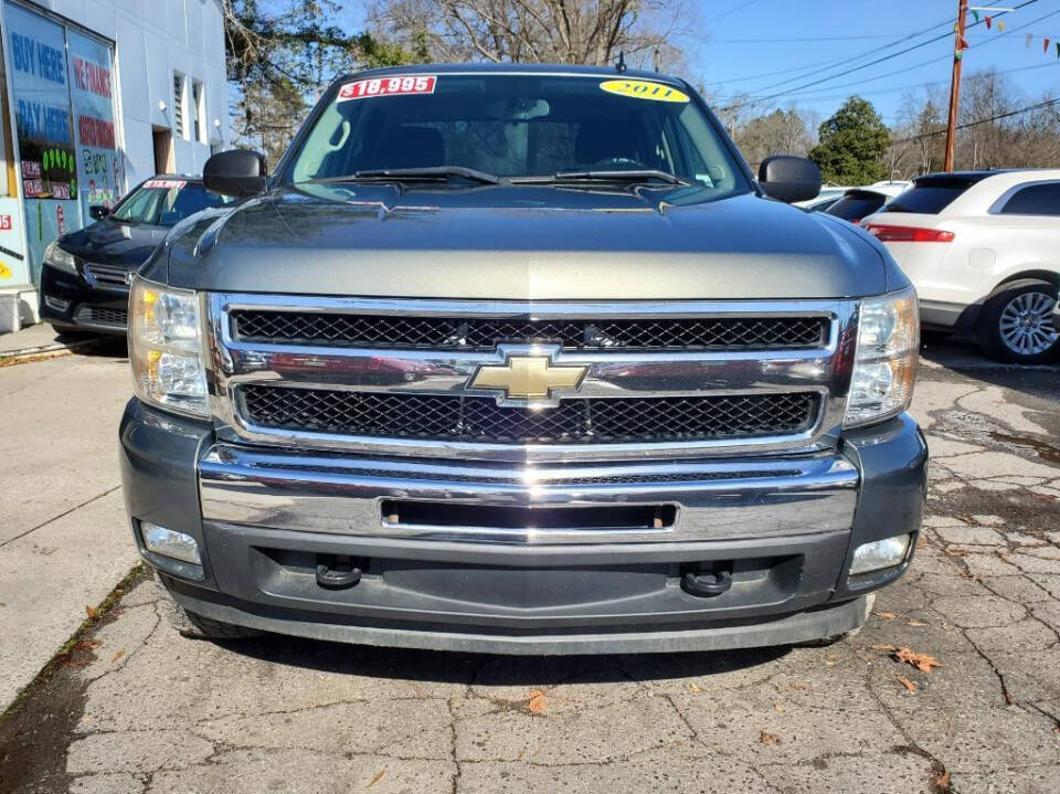
[[[857,300],[205,300],[220,441],[523,463],[834,448],[858,316]],[[584,377],[547,404],[471,385],[512,357]]]

